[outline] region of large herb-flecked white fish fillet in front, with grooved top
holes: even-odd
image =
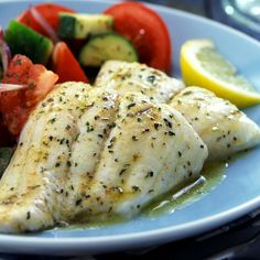
[[[0,231],[131,217],[199,174],[205,143],[166,105],[66,83],[31,115],[0,181]]]

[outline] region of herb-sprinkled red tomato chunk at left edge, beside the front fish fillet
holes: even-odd
[[[19,136],[30,112],[54,87],[58,76],[43,65],[33,64],[23,55],[15,55],[2,83],[28,85],[25,89],[1,93],[0,112],[3,123],[13,136]]]

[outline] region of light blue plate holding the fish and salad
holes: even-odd
[[[0,24],[25,10],[32,1],[0,0]],[[101,12],[111,1],[61,1],[77,11]],[[164,19],[173,44],[173,76],[180,77],[178,51],[185,40],[212,39],[260,90],[260,44],[227,26],[173,9],[151,6]],[[159,39],[160,41],[160,39]],[[260,124],[260,106],[246,110]],[[201,234],[260,206],[260,147],[236,160],[227,177],[209,194],[172,214],[99,228],[52,229],[36,234],[0,235],[0,251],[42,254],[83,254],[145,248]]]

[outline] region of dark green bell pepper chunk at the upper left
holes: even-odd
[[[9,23],[4,40],[12,55],[23,54],[33,63],[46,65],[53,51],[50,39],[14,20]]]

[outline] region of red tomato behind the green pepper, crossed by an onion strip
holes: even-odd
[[[66,8],[56,3],[40,3],[40,4],[34,6],[34,8],[48,22],[48,24],[54,29],[54,31],[56,31],[58,26],[59,12],[75,13],[73,9]],[[21,23],[37,31],[39,33],[45,36],[48,36],[44,28],[42,28],[42,25],[33,18],[30,9],[24,11],[22,14],[20,14],[18,20]]]

